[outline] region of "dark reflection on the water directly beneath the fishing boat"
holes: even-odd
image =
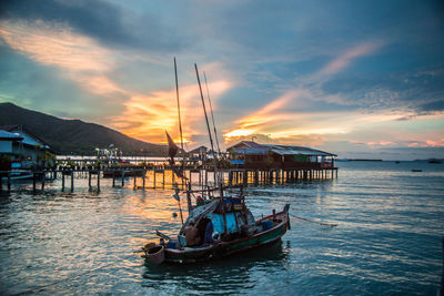
[[[199,292],[233,293],[254,287],[259,274],[266,276],[272,269],[285,269],[290,245],[274,243],[266,248],[253,249],[230,258],[214,261],[212,264],[199,263],[186,265],[165,264],[155,266],[147,263],[143,274],[144,286],[153,289],[175,290],[182,283],[186,289]],[[170,287],[169,287],[170,286]]]

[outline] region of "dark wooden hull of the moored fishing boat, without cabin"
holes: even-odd
[[[264,217],[259,222],[271,218],[273,218],[273,216]],[[185,247],[184,249],[165,248],[164,261],[169,263],[195,263],[210,261],[272,244],[281,239],[290,226],[287,213],[279,213],[275,215],[275,218],[280,220],[281,222],[274,227],[248,237],[242,237],[230,242],[221,242],[208,247]]]

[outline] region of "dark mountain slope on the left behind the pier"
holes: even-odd
[[[57,154],[94,155],[95,147],[110,144],[123,155],[165,156],[168,146],[142,142],[103,125],[81,120],[62,120],[44,113],[0,103],[0,125],[20,124],[43,140]]]

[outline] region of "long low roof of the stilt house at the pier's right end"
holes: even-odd
[[[253,141],[239,142],[238,144],[226,149],[226,151],[230,150],[236,154],[253,154],[253,155],[264,155],[271,151],[279,155],[337,156],[336,154],[311,147],[260,144]]]

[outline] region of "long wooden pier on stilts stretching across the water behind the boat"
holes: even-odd
[[[337,178],[337,167],[333,169],[271,169],[271,170],[251,170],[251,169],[219,169],[222,183],[228,186],[236,185],[266,185],[296,183],[309,180],[331,180]],[[214,183],[214,170],[205,167],[188,167],[184,170],[184,176],[191,181],[191,185],[204,186],[204,184]],[[11,192],[11,186],[16,184],[12,172],[0,172],[0,192]],[[125,182],[133,180],[133,188],[165,188],[179,185],[184,188],[182,178],[174,175],[171,167],[150,167],[150,169],[63,169],[32,171],[32,177],[23,182],[32,182],[32,191],[38,193],[44,191],[48,182],[61,180],[61,190],[67,187],[73,192],[75,178],[88,178],[90,191],[100,192],[102,178],[112,180],[112,187],[125,186]],[[110,183],[110,182],[108,182]]]

